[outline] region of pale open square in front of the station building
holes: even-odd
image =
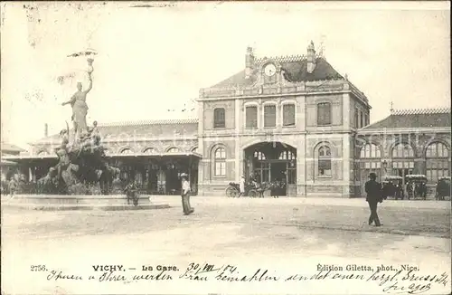
[[[137,268],[165,263],[184,269],[190,262],[276,270],[299,269],[303,265],[309,271],[315,271],[317,263],[410,263],[423,270],[449,270],[448,202],[385,202],[379,212],[383,226],[376,228],[366,224],[369,213],[363,200],[193,197],[196,211],[184,216],[179,198],[153,197],[153,202],[166,201],[174,206],[148,211],[43,212],[4,207],[5,291],[28,293],[32,286],[39,286],[39,293],[54,292],[52,281],[39,279],[39,273],[29,271],[33,264],[80,273],[92,271],[91,265],[100,263]],[[21,285],[21,277],[26,277],[29,284]],[[183,285],[179,284],[179,289],[159,288],[165,292],[196,290],[190,285],[184,289]],[[72,293],[96,292],[65,281],[57,286]],[[148,291],[140,286],[128,285],[132,290],[108,286],[113,288],[108,291]],[[217,285],[210,288],[221,291]],[[334,289],[324,291],[334,293]]]

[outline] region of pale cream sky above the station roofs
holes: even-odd
[[[450,107],[450,8],[442,3],[2,3],[2,141],[71,124],[62,107],[86,85],[88,122],[196,118],[194,100],[257,58],[306,54],[312,40],[368,97],[371,123],[394,109]],[[75,72],[59,83],[57,78]],[[174,110],[173,110],[174,109]],[[186,109],[185,111],[182,111]]]

